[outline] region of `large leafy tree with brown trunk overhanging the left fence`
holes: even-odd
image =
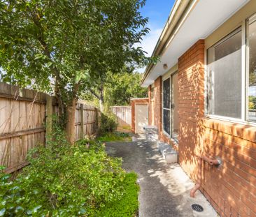
[[[75,140],[76,102],[106,72],[146,64],[145,0],[1,0],[1,80],[55,93]]]

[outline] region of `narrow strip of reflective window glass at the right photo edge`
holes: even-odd
[[[248,89],[248,117],[256,121],[256,21],[248,26],[248,59],[249,59],[249,89]]]

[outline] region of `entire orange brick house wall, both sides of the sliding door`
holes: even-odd
[[[223,163],[203,163],[201,192],[221,216],[256,216],[256,128],[204,115],[204,40],[199,40],[178,59],[179,163],[197,180],[196,155],[218,156]],[[155,126],[162,133],[162,77],[155,80]],[[197,197],[197,195],[196,195]]]

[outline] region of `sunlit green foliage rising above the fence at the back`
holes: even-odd
[[[120,73],[110,75],[105,87],[106,103],[111,105],[129,105],[131,98],[148,96],[148,89],[141,87],[140,73]]]

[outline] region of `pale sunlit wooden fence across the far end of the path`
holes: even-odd
[[[118,119],[118,126],[131,126],[131,106],[111,106],[111,111]]]

